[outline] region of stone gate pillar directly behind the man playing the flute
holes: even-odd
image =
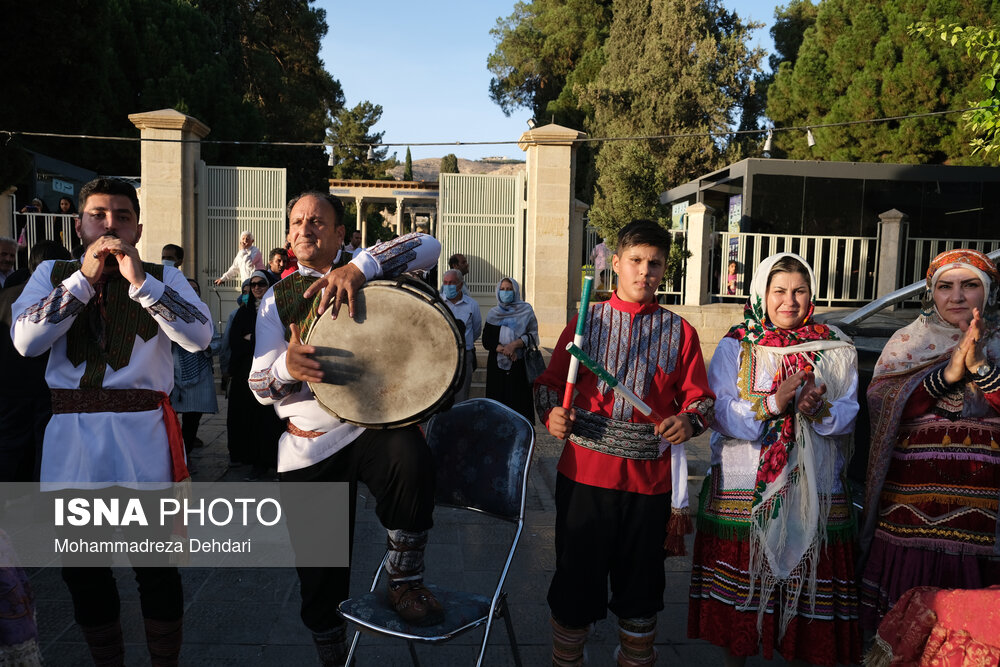
[[[142,142],[139,256],[158,263],[163,246],[176,243],[184,248],[184,275],[196,278],[202,267],[197,266],[196,252],[195,166],[201,159],[200,140],[209,128],[174,109],[134,113],[128,119],[142,139],[172,140]]]

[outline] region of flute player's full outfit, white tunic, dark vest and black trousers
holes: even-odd
[[[169,400],[170,346],[208,347],[211,319],[180,271],[145,262],[143,268],[146,280],[136,289],[118,272],[94,286],[79,262],[43,262],[14,303],[17,350],[26,356],[49,351],[45,380],[53,414],[45,429],[43,489],[188,477]],[[184,615],[180,574],[176,567],[138,567],[135,577],[150,654],[164,664],[176,661]],[[111,568],[64,567],[62,578],[95,661],[124,660]]]

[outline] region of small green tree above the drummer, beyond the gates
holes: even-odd
[[[334,145],[334,178],[392,178],[386,170],[395,166],[395,159],[388,157],[388,148],[375,145],[382,142],[385,133],[372,131],[381,119],[381,105],[367,100],[353,109],[341,110],[333,119],[327,139]],[[373,155],[370,159],[369,150]]]

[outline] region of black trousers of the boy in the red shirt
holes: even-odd
[[[655,616],[663,609],[663,541],[670,494],[655,496],[556,479],[556,572],[552,615],[567,627],[605,618]],[[608,578],[611,601],[608,601]]]

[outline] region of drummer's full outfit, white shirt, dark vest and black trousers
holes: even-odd
[[[407,234],[359,250],[353,259],[341,252],[332,268],[350,259],[366,280],[389,278],[430,268],[437,262],[440,250],[440,244],[431,236]],[[302,294],[320,277],[319,272],[300,264],[298,272],[264,295],[257,313],[249,384],[258,401],[274,405],[278,416],[288,420],[287,432],[278,443],[278,472],[283,484],[348,482],[352,534],[357,482],[364,482],[375,496],[376,514],[387,529],[390,546],[386,563],[389,597],[401,601],[393,601],[393,606],[406,621],[405,608],[411,602],[411,609],[430,606],[422,580],[423,552],[433,522],[433,457],[416,426],[382,430],[341,422],[320,407],[306,383],[289,374],[285,363],[289,325],[298,324],[305,332],[315,321],[321,292],[311,300],[302,298]],[[346,308],[340,317],[348,317]],[[401,326],[405,324],[400,322]],[[283,493],[295,493],[293,487],[289,484]],[[288,514],[288,524],[296,549],[301,536],[315,531],[307,517],[300,518],[293,512]],[[321,656],[339,652],[344,646],[346,626],[337,613],[337,604],[350,594],[350,569],[298,568],[298,575],[302,620],[313,632]],[[333,646],[339,648],[334,651]]]

